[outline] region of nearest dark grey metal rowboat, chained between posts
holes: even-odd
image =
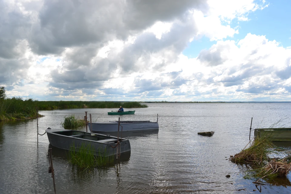
[[[120,151],[119,153],[129,152],[130,143],[128,139],[121,139],[110,135],[102,135],[96,133],[89,133],[76,130],[66,129],[46,129],[45,132],[48,135],[49,143],[57,148],[70,150],[75,148],[76,151],[80,149],[92,149],[96,156],[104,153],[107,156],[116,154],[114,149],[119,140]]]

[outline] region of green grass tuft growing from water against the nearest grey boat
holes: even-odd
[[[69,160],[72,165],[85,169],[106,166],[114,161],[114,155],[107,156],[106,149],[99,153],[99,156],[95,156],[95,150],[90,144],[82,143],[79,149],[73,144],[69,150]]]

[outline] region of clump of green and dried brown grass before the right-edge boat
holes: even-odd
[[[278,177],[287,177],[291,169],[291,153],[275,146],[268,137],[256,138],[249,148],[231,156],[230,161],[237,164],[249,164],[253,169],[246,172],[244,178],[274,181]],[[248,146],[248,145],[247,145]]]

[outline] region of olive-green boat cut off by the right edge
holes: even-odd
[[[255,137],[266,137],[275,142],[291,142],[291,128],[266,128],[254,131]]]

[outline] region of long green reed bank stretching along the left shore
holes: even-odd
[[[108,101],[37,101],[23,100],[21,97],[6,98],[4,86],[0,85],[0,121],[36,118],[38,110],[80,109],[80,108],[146,108],[139,102],[108,102]],[[38,116],[42,116],[39,115]]]

